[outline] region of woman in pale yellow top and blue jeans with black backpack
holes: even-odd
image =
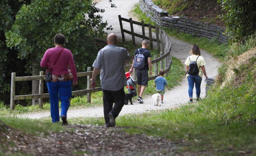
[[[205,72],[205,60],[204,58],[201,56],[201,52],[199,47],[194,44],[190,50],[190,56],[187,58],[187,60],[185,61],[186,69],[188,71],[189,69],[189,63],[191,61],[196,61],[197,67],[199,68],[199,73],[198,75],[189,75],[187,74],[187,79],[188,79],[188,95],[189,95],[189,102],[193,102],[192,98],[193,98],[193,88],[195,85],[195,93],[196,93],[196,99],[198,100],[200,98],[200,93],[201,93],[201,82],[202,82],[202,76],[204,74],[205,78],[207,79],[207,75]]]

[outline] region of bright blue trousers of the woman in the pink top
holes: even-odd
[[[71,81],[47,82],[50,95],[50,107],[52,122],[60,121],[59,96],[61,99],[61,116],[67,117],[70,98],[72,96]]]

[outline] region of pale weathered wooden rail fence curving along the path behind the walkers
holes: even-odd
[[[154,26],[154,27],[157,28],[157,26]],[[161,48],[163,51],[160,52],[159,58],[157,58],[157,55],[155,55],[154,60],[151,60],[152,65],[153,64],[155,65],[155,75],[149,76],[148,81],[155,80],[156,77],[158,76],[158,63],[160,63],[160,68],[165,70],[165,76],[168,76],[169,70],[171,68],[172,59],[171,59],[170,38],[164,31],[162,32],[162,30],[160,28],[159,28],[159,30],[161,32],[160,38],[162,38],[162,40],[160,40],[159,43],[161,43],[161,45],[163,45]],[[163,60],[164,60],[165,68],[163,67]],[[125,65],[124,69],[125,70],[130,69],[131,66],[132,66],[131,64]],[[87,94],[87,100],[88,100],[88,102],[91,102],[91,93],[101,91],[101,87],[97,87],[97,88],[95,88],[95,90],[93,90],[91,88],[91,84],[90,84],[90,79],[92,76],[91,67],[87,68],[87,72],[77,73],[77,77],[82,77],[82,76],[87,76],[87,88],[88,89],[72,91],[72,95],[86,95]],[[134,77],[135,83],[137,84],[136,68],[133,69],[133,77]],[[15,95],[16,82],[32,81],[32,80],[39,80],[39,94]],[[15,100],[26,100],[26,99],[35,99],[35,98],[39,98],[39,107],[43,107],[42,98],[49,98],[49,93],[43,93],[44,80],[45,80],[45,76],[43,74],[43,71],[41,71],[40,75],[38,75],[38,76],[24,76],[24,77],[16,77],[15,72],[11,73],[10,110],[14,110]]]

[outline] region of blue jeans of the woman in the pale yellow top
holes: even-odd
[[[199,75],[188,75],[187,79],[188,79],[189,98],[193,98],[194,84],[195,84],[196,98],[199,98],[201,93],[200,86],[201,86],[202,78]]]

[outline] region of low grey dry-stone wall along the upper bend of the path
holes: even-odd
[[[177,29],[179,32],[194,34],[198,37],[217,37],[220,43],[227,43],[228,39],[223,34],[225,28],[210,23],[194,21],[185,17],[174,19],[168,17],[168,12],[159,8],[151,0],[140,0],[140,10],[145,12],[152,22],[165,28]]]

